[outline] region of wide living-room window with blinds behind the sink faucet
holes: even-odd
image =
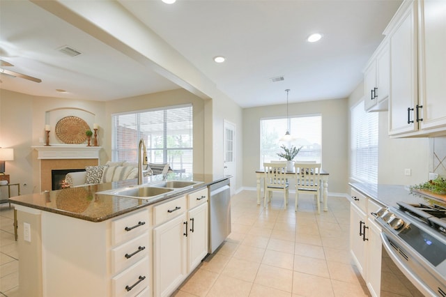
[[[137,162],[139,139],[144,139],[148,162],[192,173],[192,131],[192,105],[113,114],[112,160]]]

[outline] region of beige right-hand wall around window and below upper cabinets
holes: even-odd
[[[349,108],[362,100],[363,90],[361,83],[348,98]],[[388,112],[379,112],[378,118],[378,183],[414,185],[426,181],[429,176],[429,138],[391,139],[388,136]],[[404,169],[411,169],[412,174],[405,176]]]

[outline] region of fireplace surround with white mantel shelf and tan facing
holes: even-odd
[[[58,145],[32,146],[38,151],[40,161],[40,191],[52,189],[51,171],[53,169],[80,169],[99,165],[101,146]]]

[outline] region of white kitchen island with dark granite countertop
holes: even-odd
[[[11,198],[20,296],[168,296],[206,257],[208,186],[227,178],[171,174],[199,183],[148,200],[102,194],[137,180]]]

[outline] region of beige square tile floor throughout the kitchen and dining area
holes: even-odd
[[[255,191],[233,196],[231,235],[174,296],[369,296],[348,252],[348,201],[329,197],[328,212],[317,215],[310,196],[295,213],[293,197],[284,211],[279,193],[267,208]],[[13,230],[13,210],[1,204],[0,297],[18,296]]]

